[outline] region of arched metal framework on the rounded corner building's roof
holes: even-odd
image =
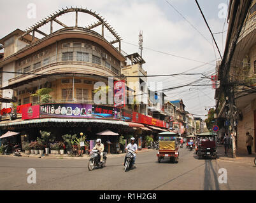
[[[110,44],[119,43],[119,51],[121,50],[121,40],[122,40],[121,37],[117,34],[115,29],[113,29],[113,27],[111,27],[111,25],[109,25],[109,23],[106,22],[106,20],[104,20],[103,16],[100,16],[99,13],[96,14],[95,11],[93,12],[92,10],[87,10],[87,8],[85,8],[85,9],[84,8],[77,8],[77,7],[73,8],[72,6],[71,6],[71,8],[68,8],[68,7],[66,7],[66,9],[62,8],[62,10],[56,11],[55,13],[50,14],[50,16],[47,16],[47,18],[44,18],[44,19],[40,20],[38,23],[35,23],[31,27],[29,27],[27,30],[25,30],[24,31],[25,33],[22,34],[22,36],[20,38],[27,41],[26,39],[24,39],[24,36],[32,33],[32,41],[29,41],[28,43],[33,43],[33,41],[35,39],[35,37],[34,37],[35,32],[38,32],[39,34],[41,34],[45,37],[48,36],[48,34],[39,30],[40,27],[42,27],[43,25],[45,25],[47,23],[50,23],[50,34],[52,34],[52,32],[53,32],[53,21],[58,23],[59,25],[61,25],[64,28],[68,27],[64,23],[57,20],[57,18],[61,15],[64,15],[66,13],[71,13],[71,12],[75,12],[75,14],[76,14],[75,27],[78,27],[78,12],[87,13],[87,14],[92,15],[95,18],[97,18],[97,22],[94,22],[93,24],[85,26],[85,29],[91,30],[91,29],[101,25],[101,27],[102,27],[101,36],[104,37],[104,27],[105,27],[115,37],[115,39],[113,41],[110,41]]]

